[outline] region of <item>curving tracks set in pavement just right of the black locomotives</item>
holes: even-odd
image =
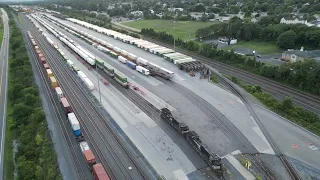
[[[270,170],[270,168],[261,160],[258,156],[258,150],[251,144],[251,142],[241,133],[241,131],[229,121],[220,111],[215,109],[210,103],[196,95],[194,92],[186,89],[180,84],[172,81],[166,81],[158,78],[164,84],[175,89],[196,105],[200,110],[204,112],[210,121],[216,124],[227,136],[229,136],[235,144],[237,144],[239,150],[248,159],[250,159],[257,169],[265,175],[267,179],[276,179],[276,175]]]

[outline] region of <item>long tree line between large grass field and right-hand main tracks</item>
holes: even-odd
[[[173,44],[174,38],[166,32],[157,32],[152,28],[141,30],[141,34],[159,41]],[[320,64],[314,60],[304,62],[284,63],[280,66],[272,66],[256,61],[255,57],[242,56],[233,51],[217,49],[216,44],[197,43],[176,39],[176,46],[211,60],[226,63],[261,76],[288,84],[297,89],[320,95]]]

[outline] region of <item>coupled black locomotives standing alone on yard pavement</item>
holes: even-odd
[[[201,157],[218,173],[222,172],[222,161],[218,154],[210,151],[195,131],[190,131],[188,125],[178,122],[168,108],[161,109],[161,118],[175,128],[196,149]]]

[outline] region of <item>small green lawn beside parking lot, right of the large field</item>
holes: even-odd
[[[261,54],[276,54],[280,53],[281,50],[275,43],[272,42],[262,42],[262,41],[240,41],[237,44],[225,47],[223,49],[233,49],[233,48],[248,48],[255,50]]]

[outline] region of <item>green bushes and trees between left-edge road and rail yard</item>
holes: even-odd
[[[9,14],[9,13],[8,13]],[[19,146],[16,179],[62,179],[23,36],[10,18],[7,126]],[[12,140],[8,143],[12,144]],[[6,146],[8,145],[6,144]],[[9,145],[10,146],[10,145]],[[12,151],[12,149],[9,149]],[[7,152],[12,157],[12,152]],[[8,163],[12,165],[12,162]],[[12,169],[12,168],[11,168]],[[7,172],[12,172],[7,171]],[[12,177],[7,174],[7,177]]]

